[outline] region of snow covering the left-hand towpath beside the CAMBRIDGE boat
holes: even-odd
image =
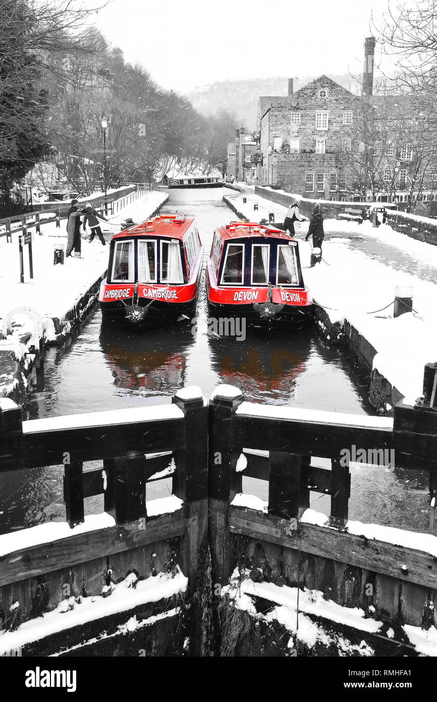
[[[102,223],[102,230],[111,234],[120,231],[122,220],[131,217],[134,221],[147,219],[166,199],[165,192],[147,193],[135,203],[123,208],[110,218],[112,226]],[[25,283],[20,283],[20,261],[18,257],[18,234],[12,234],[12,242],[0,238],[0,319],[18,306],[32,307],[40,314],[46,328],[47,340],[53,340],[53,317],[62,319],[107,268],[109,249],[102,246],[98,237],[92,243],[82,239],[83,258],[65,258],[64,265],[53,265],[53,251],[62,244],[67,249],[67,220],[61,220],[60,228],[53,222],[45,225],[42,235],[32,231],[32,255],[34,278],[29,278],[28,246],[24,248]],[[83,230],[81,229],[83,234]],[[83,234],[84,235],[84,234]],[[27,331],[27,317],[19,331]],[[0,327],[1,329],[1,327]]]

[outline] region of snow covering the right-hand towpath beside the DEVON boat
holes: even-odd
[[[247,203],[243,204],[243,195]],[[269,219],[273,211],[277,222],[283,221],[286,207],[257,197],[250,192],[243,192],[229,200],[238,211],[246,214],[248,220]],[[258,211],[253,204],[258,204]],[[323,242],[323,258],[320,265],[309,268],[311,246],[302,241],[308,231],[304,222],[296,231],[301,239],[300,258],[304,281],[309,285],[314,300],[325,307],[332,322],[347,319],[377,350],[373,367],[408,402],[422,395],[424,364],[436,360],[437,355],[437,247],[424,244],[394,232],[388,225],[372,227],[369,221],[358,223],[327,219],[324,223],[325,234],[351,233],[351,236],[363,237],[361,250],[351,249],[349,241],[343,237],[326,238]],[[435,282],[422,280],[418,275],[410,274],[380,263],[370,258],[365,251],[365,241],[390,244],[401,253],[408,252],[414,260],[423,266],[435,270]],[[393,318],[395,286],[413,288],[413,308],[418,314],[403,314]],[[389,305],[386,310],[382,307]]]

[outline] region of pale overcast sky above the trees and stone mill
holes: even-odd
[[[164,88],[213,81],[356,74],[370,18],[388,0],[112,0],[98,13],[105,37]],[[375,56],[375,62],[378,57]]]

